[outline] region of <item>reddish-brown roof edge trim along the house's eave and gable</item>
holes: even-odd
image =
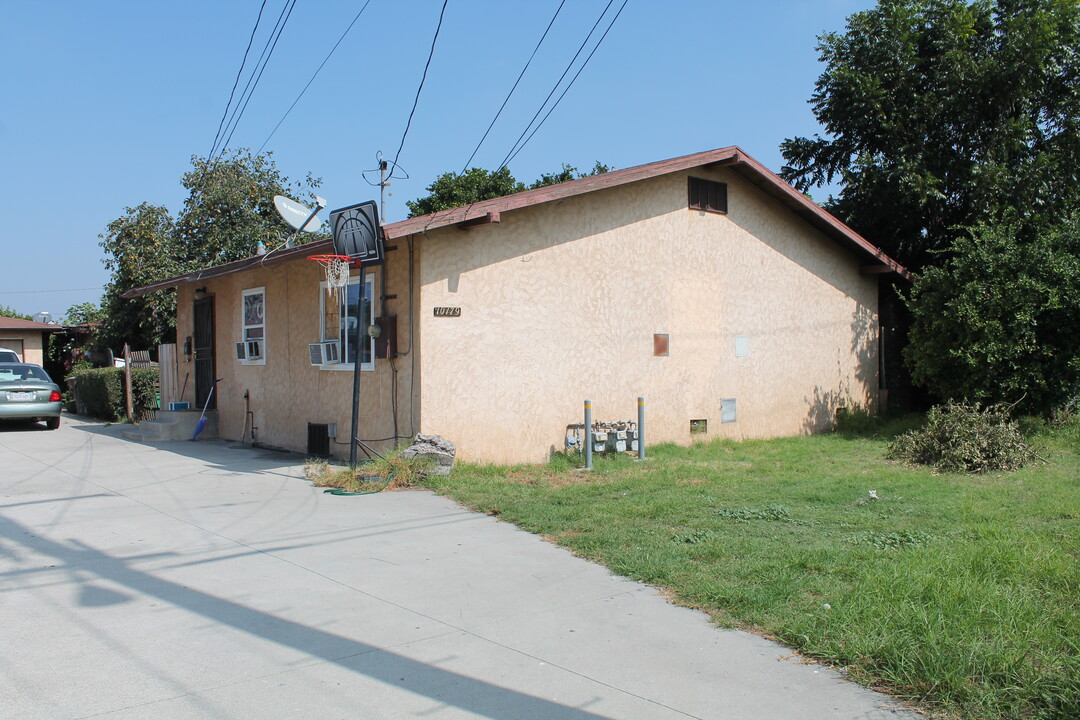
[[[387,240],[405,237],[445,228],[448,226],[468,226],[482,222],[498,221],[499,215],[509,210],[521,209],[532,205],[564,200],[575,195],[582,195],[606,188],[615,188],[630,182],[638,182],[649,178],[677,173],[679,171],[693,167],[727,167],[732,173],[756,186],[767,195],[773,198],[781,205],[792,213],[795,213],[812,227],[816,228],[826,236],[843,245],[855,255],[866,259],[870,266],[866,272],[870,273],[895,273],[905,280],[910,281],[912,276],[904,266],[900,264],[872,242],[860,235],[858,232],[846,226],[843,222],[833,217],[824,208],[816,205],[801,192],[787,185],[779,175],[757,162],[738,146],[719,148],[717,150],[706,150],[689,155],[661,160],[646,165],[636,165],[616,169],[603,175],[592,175],[578,180],[559,182],[536,190],[525,190],[512,195],[503,195],[492,200],[484,200],[471,205],[454,207],[447,210],[421,215],[408,218],[400,222],[391,222],[382,227],[383,236]],[[195,283],[211,277],[230,274],[246,270],[256,264],[275,264],[285,260],[293,260],[297,257],[307,257],[319,253],[333,253],[333,243],[328,240],[307,245],[286,248],[274,252],[272,255],[255,256],[227,262],[213,268],[206,268],[186,275],[170,277],[150,285],[137,287],[123,294],[125,298],[134,298],[154,290],[162,290],[168,287],[176,287],[185,283]]]

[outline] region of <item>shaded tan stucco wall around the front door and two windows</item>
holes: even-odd
[[[391,254],[393,255],[393,254]],[[379,296],[397,294],[387,301],[388,314],[400,316],[400,345],[408,351],[408,331],[402,323],[407,315],[407,256],[392,256],[388,268],[374,272],[376,314]],[[395,272],[395,266],[400,266]],[[357,271],[353,271],[354,273]],[[193,335],[192,302],[194,289],[205,287],[214,298],[216,372],[219,435],[227,439],[251,441],[251,425],[255,439],[264,445],[306,451],[308,423],[337,423],[340,445],[330,441],[338,458],[349,457],[349,435],[352,413],[352,366],[319,368],[310,364],[308,343],[321,340],[321,299],[325,291],[319,284],[322,269],[306,259],[270,264],[216,279],[184,285],[177,296],[177,351],[179,383],[190,373],[183,397],[194,405],[194,362],[185,356],[185,338]],[[242,337],[241,298],[245,289],[266,288],[266,363],[245,365],[235,358],[234,343]],[[411,427],[410,358],[394,362],[397,373],[399,434],[408,435]],[[392,407],[392,369],[386,359],[376,359],[375,369],[361,373],[360,437],[378,440],[394,434]],[[248,397],[245,399],[244,394]],[[252,421],[245,427],[245,411],[252,410]],[[392,441],[373,441],[377,449],[392,447]],[[365,456],[359,454],[361,459]]]

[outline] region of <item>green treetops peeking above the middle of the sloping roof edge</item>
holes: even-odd
[[[600,175],[611,168],[596,162],[589,173],[578,173],[578,168],[563,163],[563,169],[558,173],[544,173],[532,185],[525,187],[524,182],[518,182],[510,171],[502,167],[497,171],[488,171],[483,167],[473,167],[467,173],[457,175],[455,173],[443,173],[435,181],[428,186],[428,194],[417,200],[408,201],[405,204],[409,209],[409,217],[428,215],[440,210],[448,210],[451,207],[461,207],[471,203],[478,203],[483,200],[492,200],[504,195],[512,195],[523,190],[535,190],[549,185],[566,182],[582,177]]]

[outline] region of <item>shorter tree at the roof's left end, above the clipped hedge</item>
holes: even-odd
[[[175,222],[168,209],[143,203],[124,208],[124,215],[99,235],[106,269],[112,273],[105,286],[102,309],[106,315],[102,342],[119,349],[151,348],[175,331],[176,293],[158,290],[138,298],[125,291],[178,275],[188,267],[176,243]]]

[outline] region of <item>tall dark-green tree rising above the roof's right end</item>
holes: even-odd
[[[880,0],[819,38],[828,137],[782,175],[839,181],[829,210],[913,269],[978,222],[1023,236],[1080,205],[1080,3]]]

